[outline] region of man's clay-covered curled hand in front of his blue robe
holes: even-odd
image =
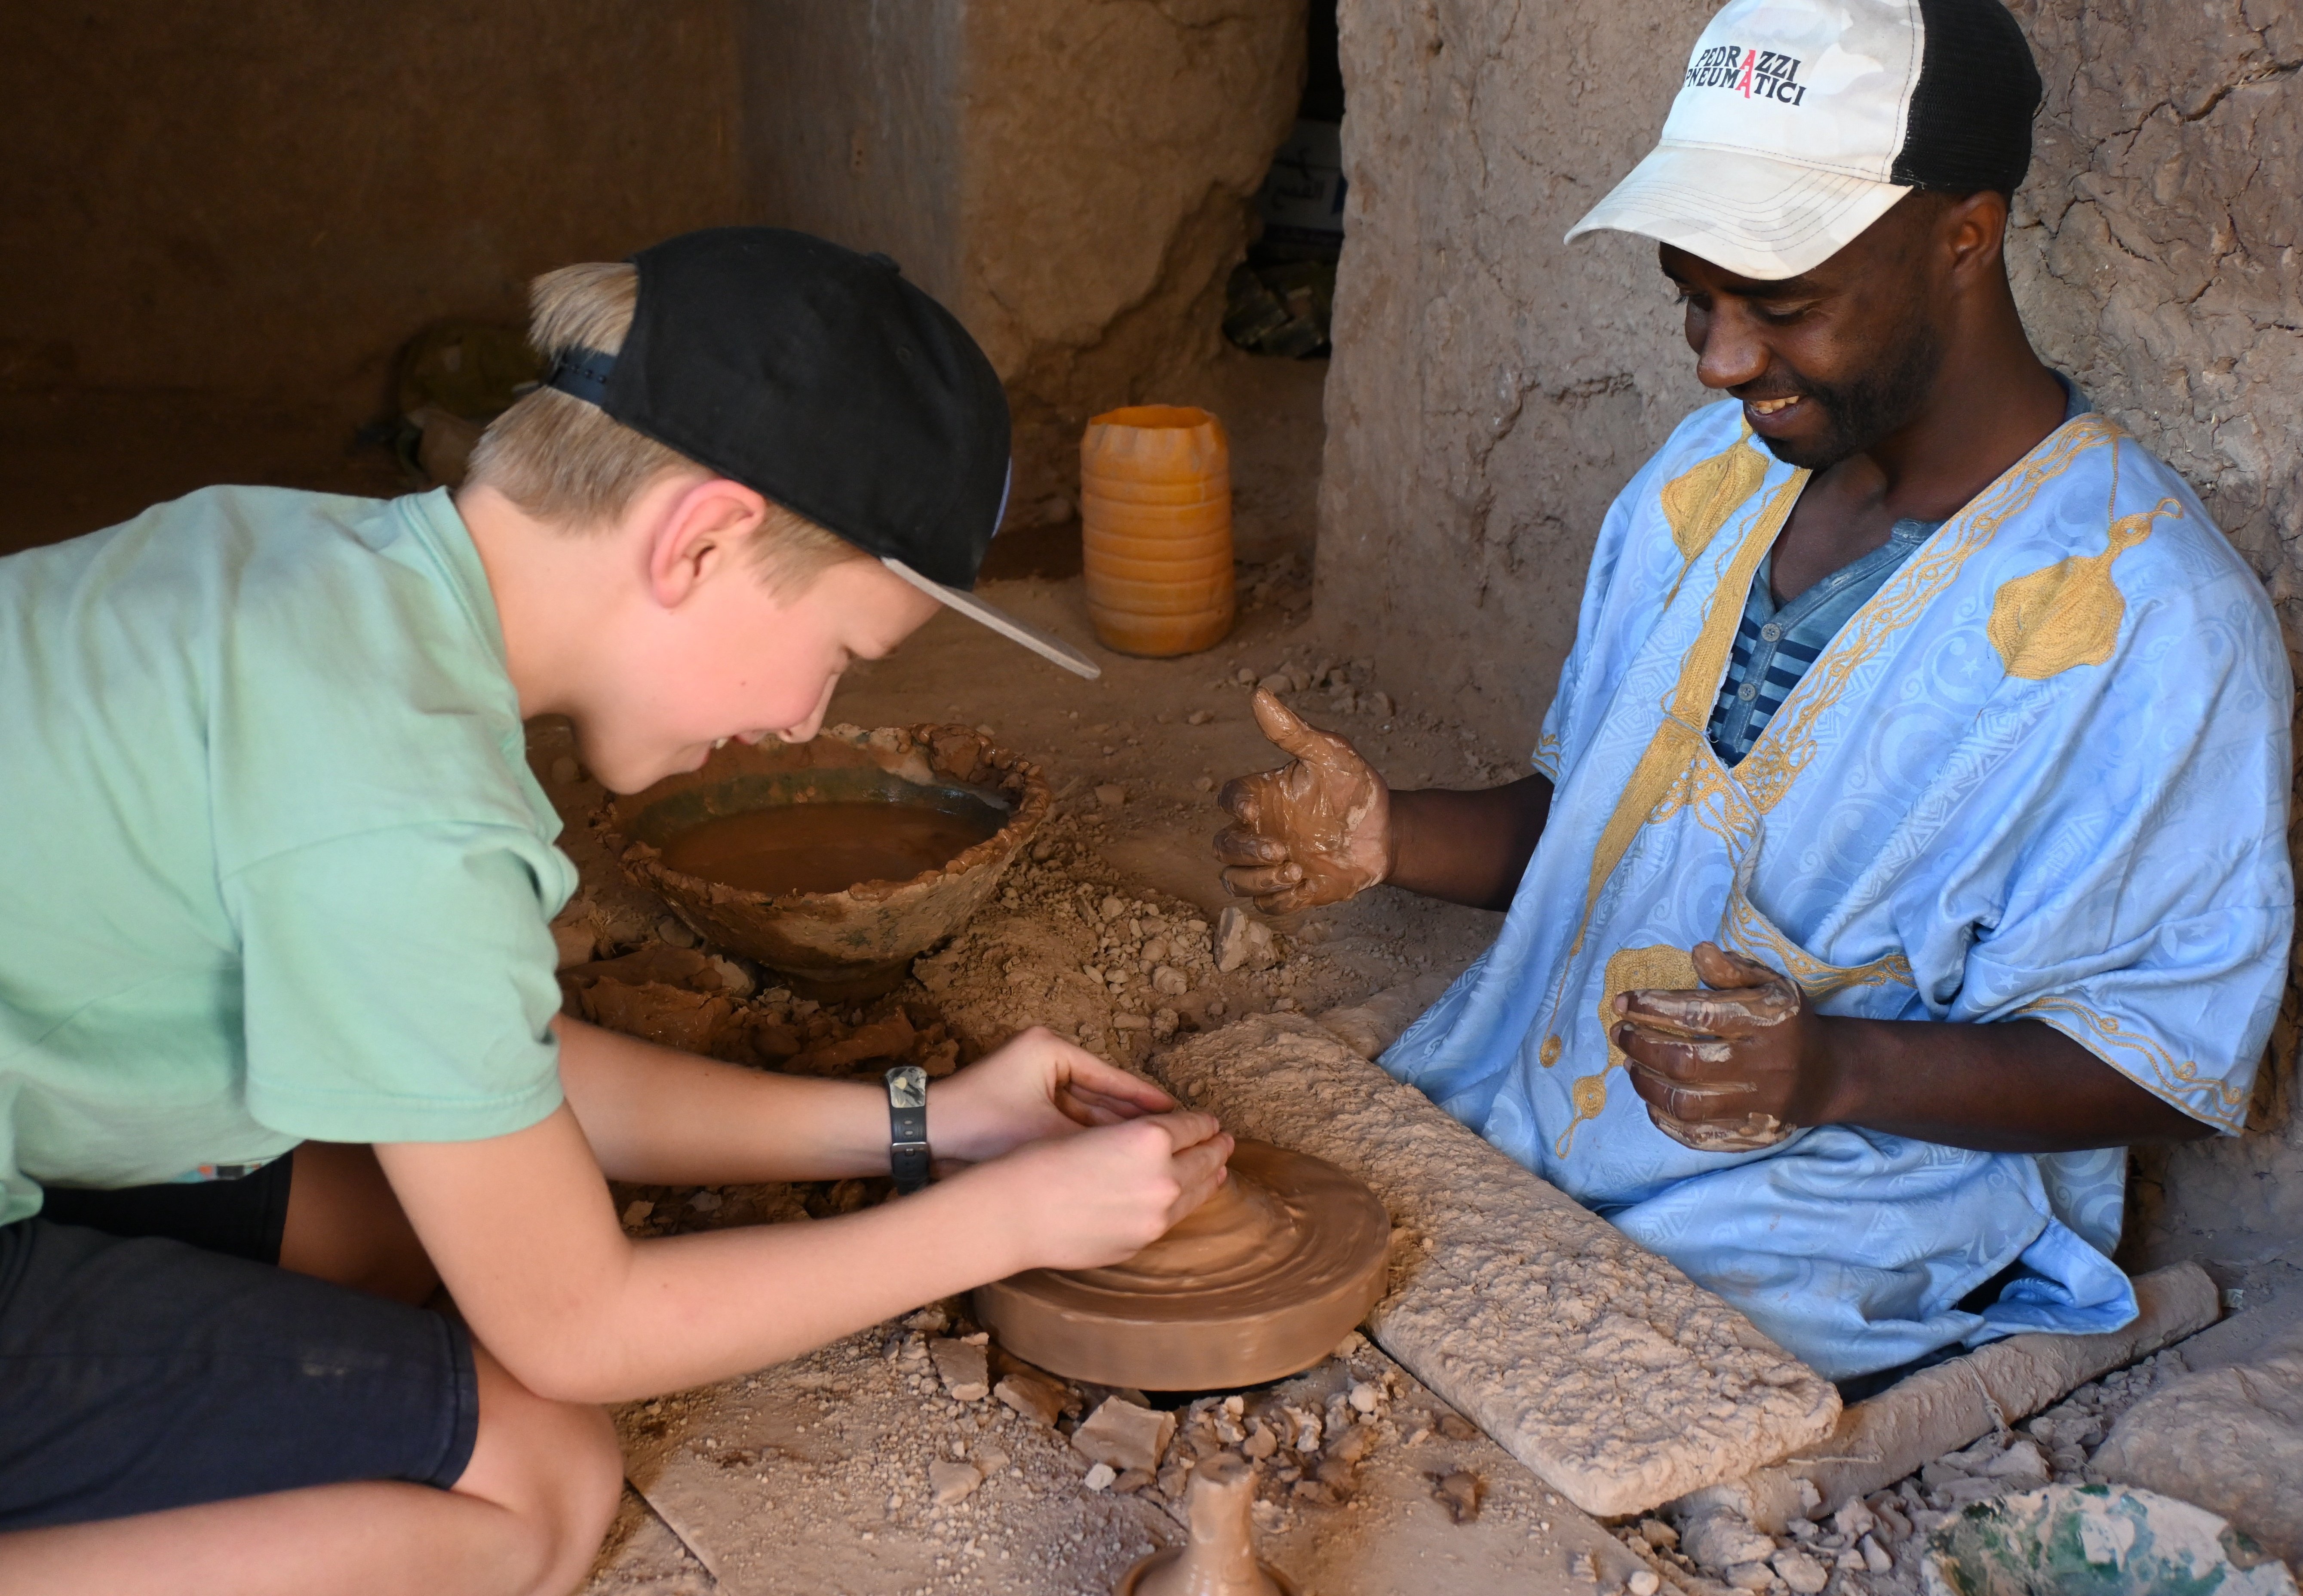
[[[1789,976],[1697,942],[1704,990],[1614,1000],[1614,1046],[1656,1128],[1702,1152],[1773,1147],[1829,1096],[1824,1050]]]

